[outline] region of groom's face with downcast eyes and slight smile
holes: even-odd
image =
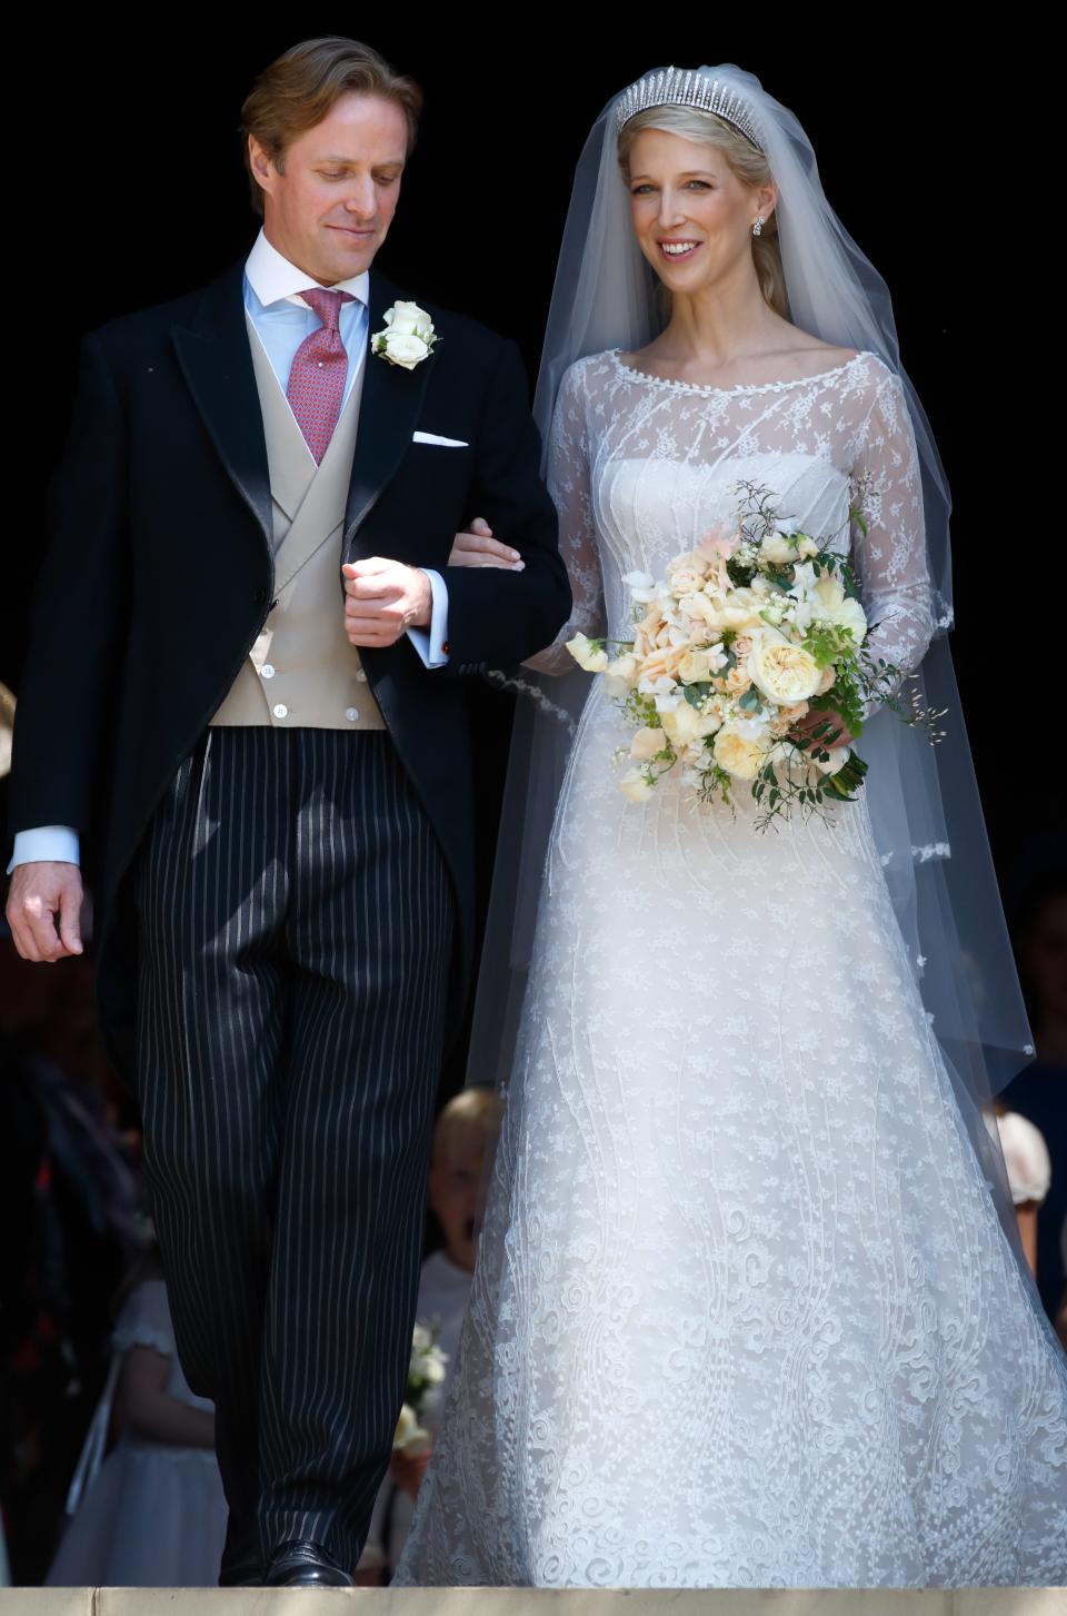
[[[381,95],[342,95],[286,149],[281,170],[249,137],[271,247],[334,286],[370,268],[400,196],[407,118]]]

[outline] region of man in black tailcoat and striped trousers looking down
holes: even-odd
[[[231,1584],[358,1559],[471,966],[462,675],[570,604],[515,347],[391,323],[412,294],[373,268],[420,102],[349,39],[260,76],[247,262],[86,339],[18,705],[8,918],[26,958],[79,953],[97,860]],[[523,570],[447,567],[475,512]]]

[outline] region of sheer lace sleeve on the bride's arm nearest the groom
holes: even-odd
[[[592,519],[589,485],[589,423],[584,360],[571,365],[560,383],[560,394],[549,431],[547,485],[560,517],[560,554],[570,579],[571,614],[544,651],[525,667],[539,674],[568,674],[575,661],[565,650],[576,633],[604,632],[604,583]]]

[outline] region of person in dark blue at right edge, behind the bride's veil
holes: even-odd
[[[1001,1099],[1041,1131],[1051,1159],[1036,1249],[1038,1290],[1056,1320],[1067,1283],[1061,1246],[1067,1217],[1067,860],[1031,879],[1015,905],[1012,932],[1038,1058]]]

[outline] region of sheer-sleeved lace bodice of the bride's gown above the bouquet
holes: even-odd
[[[794,381],[734,388],[668,381],[610,351],[562,381],[549,488],[575,596],[570,621],[529,666],[573,667],[565,642],[625,638],[630,570],[662,575],[730,522],[738,482],[768,488],[781,517],[852,553],[870,648],[904,672],[930,643],[931,591],[915,438],[898,377],[875,354]],[[864,486],[864,527],[849,507]]]

